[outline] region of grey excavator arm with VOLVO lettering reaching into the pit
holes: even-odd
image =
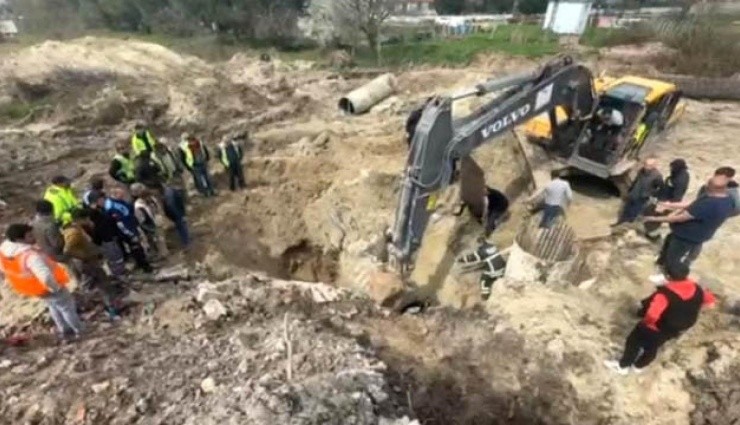
[[[452,104],[471,96],[496,93],[472,114],[452,118]],[[405,268],[421,245],[437,193],[451,184],[456,162],[476,148],[537,115],[548,112],[553,129],[555,108],[570,122],[593,113],[596,96],[591,72],[570,57],[557,58],[541,69],[487,81],[471,90],[437,97],[422,112],[411,141],[390,251]],[[553,138],[557,138],[553,134]]]

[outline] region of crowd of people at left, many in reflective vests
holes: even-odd
[[[246,186],[240,140],[230,137],[217,147],[232,190]],[[132,272],[148,274],[152,262],[169,254],[165,218],[183,248],[189,246],[183,168],[192,174],[198,192],[214,196],[209,159],[208,148],[193,136],[183,134],[176,156],[137,124],[130,143],[116,145],[109,167],[113,185],[106,187],[103,178],[94,177],[78,197],[69,178],[56,176],[36,203],[33,220],[7,228],[0,245],[6,282],[19,295],[46,303],[63,340],[84,331],[67,289],[73,275],[83,288],[98,291],[108,317],[118,320],[120,287],[132,277],[127,260],[134,264]]]

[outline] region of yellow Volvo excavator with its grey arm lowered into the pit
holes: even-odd
[[[429,101],[411,139],[390,234],[389,253],[396,268],[403,274],[413,264],[438,196],[454,183],[460,162],[517,127],[524,128],[530,138],[548,139],[547,150],[564,172],[609,179],[634,168],[648,133],[665,126],[680,92],[675,86],[672,90],[661,86],[671,95],[661,98],[664,105],[660,109],[648,111],[645,97],[651,94],[650,87],[639,92],[640,85],[611,83],[607,87],[588,68],[561,56],[538,70],[489,80]],[[469,116],[453,118],[454,102],[484,95],[492,99]],[[621,135],[604,133],[597,113],[603,108],[621,111]],[[527,127],[530,122],[534,124]]]

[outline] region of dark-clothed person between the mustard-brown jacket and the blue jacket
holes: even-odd
[[[119,240],[118,223],[113,217],[105,213],[105,194],[102,191],[91,193],[90,198],[95,200],[90,203],[87,210],[93,224],[90,232],[92,241],[100,247],[111,276],[120,282],[124,282],[126,259]]]

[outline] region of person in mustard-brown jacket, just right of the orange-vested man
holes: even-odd
[[[100,292],[108,318],[119,320],[118,309],[115,307],[115,291],[101,266],[103,253],[88,235],[88,232],[92,232],[92,227],[93,223],[87,210],[76,210],[72,213],[72,223],[62,231],[64,254],[78,264],[86,286]]]

